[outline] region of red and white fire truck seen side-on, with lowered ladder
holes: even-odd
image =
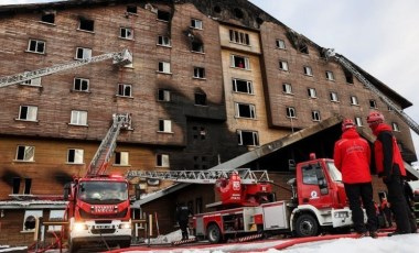
[[[206,207],[216,210],[193,217],[194,234],[212,243],[250,234],[313,237],[321,231],[351,229],[352,212],[333,160],[312,155],[297,165],[296,173],[288,182],[292,197],[281,201],[272,201],[272,182],[266,170],[138,170],[129,172],[128,177],[215,184],[219,201]]]

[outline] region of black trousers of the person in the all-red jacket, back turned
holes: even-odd
[[[370,183],[345,184],[345,191],[347,199],[350,200],[352,221],[354,222],[355,231],[357,233],[364,233],[367,230],[376,231],[378,227],[378,218],[373,201],[373,185]],[[366,228],[364,223],[364,211],[361,206],[361,199],[368,217],[368,228]]]

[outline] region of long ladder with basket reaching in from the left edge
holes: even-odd
[[[12,76],[0,77],[0,88],[11,86],[11,85],[21,84],[21,82],[26,81],[26,80],[47,76],[47,75],[58,73],[58,72],[63,72],[63,70],[67,70],[67,69],[73,69],[73,68],[80,67],[80,66],[84,66],[84,65],[87,65],[90,63],[97,63],[97,62],[101,62],[101,61],[109,59],[109,58],[112,58],[114,59],[112,63],[116,65],[119,65],[119,66],[125,66],[127,64],[132,63],[131,53],[128,50],[123,50],[123,51],[117,52],[117,53],[107,53],[107,54],[94,56],[90,58],[80,59],[77,62],[65,63],[65,64],[60,64],[60,65],[55,65],[52,67],[40,68],[40,69],[33,70],[33,72],[24,72],[24,73],[12,75]]]

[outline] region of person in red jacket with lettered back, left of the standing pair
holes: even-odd
[[[356,233],[362,237],[377,238],[378,219],[373,201],[373,185],[369,173],[370,150],[367,141],[356,132],[354,121],[342,122],[342,139],[334,145],[334,164],[342,172],[346,196],[352,210],[352,221]],[[368,228],[364,223],[364,211],[368,217]]]

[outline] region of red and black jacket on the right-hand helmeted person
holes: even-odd
[[[397,165],[400,169],[400,175],[406,176],[405,164],[396,138],[393,135],[391,127],[382,123],[373,133],[377,136],[374,142],[377,174],[389,177],[394,173],[395,165]]]

